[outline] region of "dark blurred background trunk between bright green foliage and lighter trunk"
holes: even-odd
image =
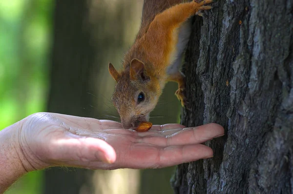
[[[92,116],[88,105],[93,99],[88,92],[93,90],[89,78],[93,76],[95,49],[90,44],[87,17],[86,1],[56,0],[48,112]],[[57,167],[46,170],[44,194],[92,193],[92,172]]]

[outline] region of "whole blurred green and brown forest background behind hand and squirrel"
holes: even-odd
[[[120,68],[123,54],[139,29],[143,0],[88,0],[82,2],[83,6],[81,2],[0,0],[0,130],[30,114],[43,111],[119,120],[113,117],[118,114],[109,102],[114,81],[107,72],[107,64],[112,62]],[[71,25],[73,22],[77,24]],[[79,47],[80,50],[77,49]],[[72,59],[75,55],[78,60]],[[87,70],[92,72],[91,76],[85,81],[79,77],[72,79],[75,74],[70,60],[78,61],[72,69],[76,66],[86,69],[87,63],[93,63],[93,67]],[[69,65],[65,70],[59,68],[66,62]],[[89,82],[89,87],[82,92],[75,91],[76,86],[73,83],[66,85],[64,80],[74,80],[74,84],[81,87]],[[70,85],[74,86],[67,87]],[[180,103],[174,96],[176,87],[175,83],[167,84],[151,114],[154,124],[179,122]],[[62,97],[61,93],[58,98],[59,91],[64,88],[68,96]],[[84,96],[77,100],[80,103],[68,102],[62,107],[69,97],[78,95]],[[168,194],[171,193],[169,179],[173,169],[95,171],[91,175],[93,190],[100,194]],[[48,172],[38,171],[23,176],[6,193],[50,193],[46,185],[53,184],[52,180],[44,178],[48,177],[45,176]],[[79,172],[73,173],[78,176]],[[117,181],[126,188],[117,185]],[[130,191],[130,187],[135,189]],[[77,193],[89,192],[80,189]]]

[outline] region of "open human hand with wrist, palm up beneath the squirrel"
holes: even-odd
[[[111,120],[36,113],[0,131],[0,193],[21,175],[52,166],[146,169],[209,158],[211,148],[201,143],[223,135],[215,123],[139,133]]]

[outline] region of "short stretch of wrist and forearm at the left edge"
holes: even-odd
[[[0,194],[27,172],[18,142],[21,122],[0,131]]]

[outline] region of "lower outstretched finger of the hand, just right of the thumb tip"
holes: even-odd
[[[202,144],[159,148],[146,144],[134,145],[128,153],[119,155],[113,166],[123,168],[165,168],[208,158],[211,148]],[[113,167],[112,167],[113,168]]]

